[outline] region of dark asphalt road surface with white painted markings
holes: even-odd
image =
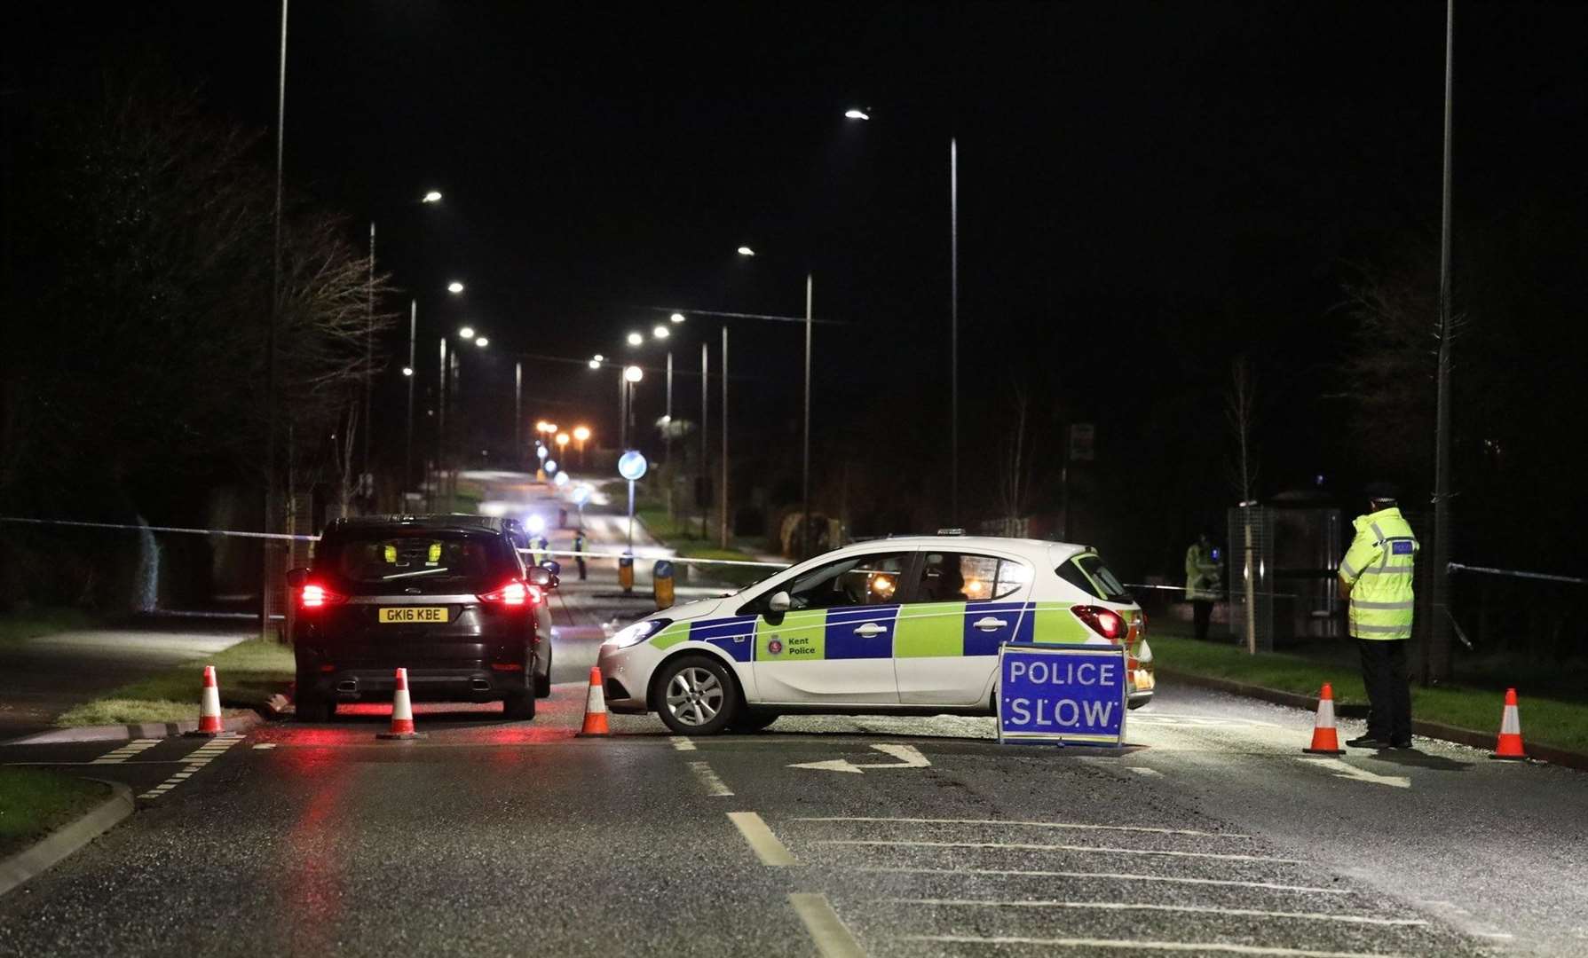
[[[73,745],[138,812],[0,898],[0,955],[1588,952],[1582,772],[1432,739],[1307,757],[1309,712],[1172,680],[1118,752],[946,715],[576,738],[586,615],[618,601],[586,588],[534,722],[421,704],[427,738],[391,742],[360,706]]]

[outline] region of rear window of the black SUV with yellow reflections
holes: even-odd
[[[486,592],[521,573],[494,533],[419,528],[343,533],[322,546],[314,565],[362,593]]]

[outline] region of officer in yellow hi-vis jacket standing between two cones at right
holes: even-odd
[[[1412,568],[1418,542],[1396,506],[1394,489],[1367,487],[1367,515],[1340,560],[1340,598],[1351,600],[1350,633],[1363,655],[1367,734],[1353,749],[1412,747],[1412,688],[1405,641],[1412,638]]]

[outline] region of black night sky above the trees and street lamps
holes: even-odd
[[[276,3],[5,16],[8,86],[148,52],[214,113],[273,124]],[[1464,227],[1583,203],[1588,14],[1464,2],[1456,30],[1459,271]],[[662,317],[648,306],[796,314],[813,270],[816,316],[845,324],[816,336],[818,449],[823,423],[889,397],[946,435],[956,136],[967,443],[1007,382],[1046,376],[1100,449],[1186,404],[1216,446],[1229,358],[1248,354],[1285,427],[1277,492],[1339,465],[1326,397],[1347,389],[1351,265],[1437,235],[1442,3],[300,0],[287,63],[289,186],[359,243],[380,222],[381,266],[419,298],[426,382],[443,327],[491,335],[488,400],[510,395],[513,352],[622,355]],[[440,208],[413,203],[432,187]],[[438,293],[453,276],[462,301]],[[691,319],[680,368],[719,325]],[[797,436],[799,328],[732,335],[735,428]],[[611,422],[610,374],[529,377],[530,416]],[[656,390],[642,401],[659,412]]]

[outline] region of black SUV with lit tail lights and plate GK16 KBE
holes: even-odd
[[[332,522],[313,566],[287,577],[299,718],[389,701],[399,666],[414,699],[502,699],[508,717],[534,718],[551,695],[537,623],[557,577],[524,566],[519,538],[516,522],[481,515]]]

